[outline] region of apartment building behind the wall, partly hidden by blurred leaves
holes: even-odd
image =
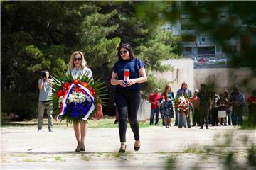
[[[202,1],[193,1],[196,6],[200,6]],[[176,23],[166,23],[165,29],[172,31],[174,35],[180,35],[182,37],[183,45],[183,57],[185,58],[200,58],[204,57],[206,62],[209,57],[214,57],[216,60],[227,57],[228,52],[239,52],[240,51],[240,37],[234,36],[230,40],[225,40],[220,45],[220,42],[215,40],[208,30],[198,30],[195,23],[193,23],[192,15],[190,13],[182,12],[183,1],[178,1],[176,5],[181,8],[180,17]],[[233,19],[235,25],[242,26],[242,22],[235,16],[230,16],[228,13],[228,6],[221,8],[218,11],[218,24],[230,22],[230,18]],[[209,11],[205,11],[200,17],[200,21],[210,22]],[[214,24],[213,24],[214,26]],[[220,30],[221,31],[221,30]]]

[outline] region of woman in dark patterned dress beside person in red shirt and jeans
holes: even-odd
[[[171,126],[171,118],[174,118],[173,101],[174,92],[171,91],[171,86],[166,85],[164,88],[163,97],[159,99],[160,112],[166,128]]]

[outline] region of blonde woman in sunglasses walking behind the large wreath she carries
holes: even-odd
[[[87,74],[88,77],[92,77],[92,71],[87,67],[87,62],[82,52],[75,51],[70,57],[70,62],[68,63],[68,72],[67,74],[72,74],[73,79],[77,79],[78,76]],[[73,125],[75,138],[78,142],[78,146],[75,149],[75,152],[85,151],[85,135],[87,131],[87,123],[85,120],[80,120]]]

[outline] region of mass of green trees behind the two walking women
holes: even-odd
[[[1,112],[23,118],[37,114],[38,79],[48,69],[67,70],[70,54],[82,50],[95,76],[110,91],[117,47],[129,42],[146,64],[149,81],[143,97],[167,82],[155,81],[152,72],[171,69],[161,61],[178,57],[180,39],[136,16],[141,1],[3,1],[1,2]]]

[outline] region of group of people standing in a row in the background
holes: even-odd
[[[168,89],[168,90],[166,90]],[[166,92],[167,91],[167,92]],[[168,94],[166,96],[166,94]],[[192,114],[187,115],[178,111],[174,106],[174,100],[180,96],[186,96],[191,99],[189,108]],[[166,98],[168,98],[166,100]],[[188,89],[186,82],[181,84],[181,89],[178,89],[176,97],[171,91],[171,86],[166,86],[164,93],[161,94],[159,89],[156,89],[153,94],[149,96],[151,103],[150,125],[158,125],[159,113],[163,118],[163,125],[169,128],[171,123],[166,121],[166,118],[174,118],[174,126],[178,128],[191,128],[191,115],[192,126],[206,126],[209,125],[242,125],[242,113],[245,106],[245,96],[240,92],[239,87],[235,86],[234,91],[229,94],[225,90],[223,94],[216,94],[216,91],[210,91],[206,84],[201,84],[200,90],[191,92]],[[256,90],[252,91],[252,96],[247,99],[249,104],[249,126],[255,126],[256,123]],[[174,114],[175,113],[175,114]],[[154,117],[156,117],[154,123]],[[168,120],[168,119],[167,119]]]

